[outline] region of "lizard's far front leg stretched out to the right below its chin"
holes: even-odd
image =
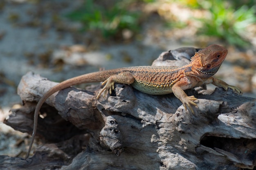
[[[213,84],[217,87],[221,87],[221,88],[224,88],[226,91],[228,88],[231,88],[233,90],[233,92],[237,93],[238,95],[242,94],[242,90],[236,86],[231,86],[229,84],[227,84],[226,82],[223,82],[222,80],[220,79],[216,79],[216,78],[213,78],[213,77],[209,77],[207,79],[207,81],[205,82],[205,84]]]

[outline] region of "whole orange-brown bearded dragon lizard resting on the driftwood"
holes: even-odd
[[[78,84],[103,82],[102,85],[105,86],[99,91],[96,97],[96,99],[99,99],[102,93],[103,97],[105,97],[108,92],[111,95],[115,83],[130,84],[133,88],[150,95],[174,93],[182,102],[185,110],[189,108],[191,112],[194,113],[192,105],[197,106],[194,102],[197,98],[193,95],[187,96],[184,92],[186,89],[203,84],[213,84],[225,90],[231,88],[233,92],[238,93],[238,95],[242,94],[240,88],[231,86],[220,79],[212,77],[220,68],[227,53],[228,51],[225,47],[212,44],[196,52],[195,55],[191,57],[191,62],[184,66],[134,66],[116,68],[80,75],[53,86],[40,98],[36,105],[32,137],[25,159],[29,156],[35,139],[40,108],[52,94]]]

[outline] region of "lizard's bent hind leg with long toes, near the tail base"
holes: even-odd
[[[114,85],[115,83],[121,83],[121,84],[132,84],[134,82],[134,77],[132,75],[132,73],[130,73],[129,71],[123,72],[123,73],[119,73],[117,75],[111,75],[110,77],[108,77],[108,79],[106,79],[102,85],[106,84],[101,91],[99,92],[99,94],[97,95],[96,99],[99,99],[101,93],[103,93],[103,97],[105,97],[105,95],[107,94],[107,92],[109,91],[109,94],[111,95],[112,90],[114,90]]]

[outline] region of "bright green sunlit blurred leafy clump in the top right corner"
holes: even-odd
[[[210,18],[200,18],[203,26],[198,33],[215,36],[237,46],[249,44],[243,34],[247,26],[256,23],[256,6],[247,6],[251,1],[241,4],[240,1],[198,0],[198,4],[211,13]]]

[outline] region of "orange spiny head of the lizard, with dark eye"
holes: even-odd
[[[216,44],[195,53],[191,58],[192,71],[201,78],[213,76],[227,56],[227,49]]]

